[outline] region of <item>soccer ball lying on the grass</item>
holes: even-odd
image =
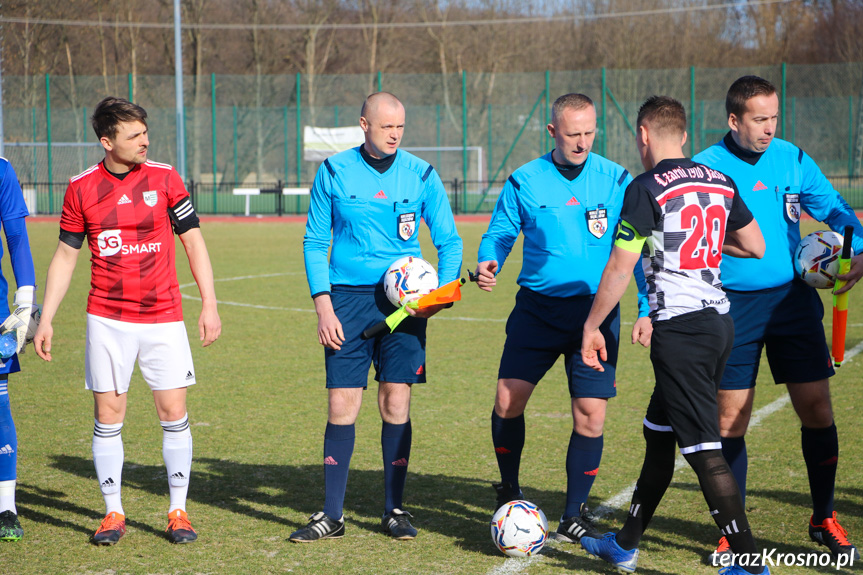
[[[542,549],[547,538],[545,513],[529,501],[510,501],[491,518],[491,540],[504,555],[529,557]]]

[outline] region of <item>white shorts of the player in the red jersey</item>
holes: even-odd
[[[154,391],[195,384],[192,350],[182,321],[132,323],[87,314],[87,389],[126,393],[136,359],[144,381]]]

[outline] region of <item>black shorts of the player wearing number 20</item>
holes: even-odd
[[[713,308],[653,322],[656,386],[644,425],[673,432],[684,455],[722,447],[716,393],[733,339],[731,317]]]

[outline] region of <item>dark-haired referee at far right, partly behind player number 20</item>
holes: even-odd
[[[858,255],[840,279],[845,292],[863,276],[863,226],[842,196],[803,150],[775,137],[779,96],[775,86],[744,76],[725,100],[730,131],[694,160],[727,173],[740,189],[764,233],[761,260],[722,261],[722,282],[731,302],[735,337],[719,388],[722,453],[746,496],[748,459],[744,436],[752,414],[761,351],[766,348],[773,380],[787,384],[801,423],[801,446],[812,515],[809,536],[838,557],[856,560],[833,509],[839,438],[833,421],[829,378],[834,374],[822,326],[824,308],[816,290],[795,278],[794,250],[800,242],[800,214],[806,212],[840,234],[854,228]],[[715,555],[730,553],[725,537]]]

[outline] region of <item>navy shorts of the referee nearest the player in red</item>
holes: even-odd
[[[366,340],[360,337],[363,330],[385,319],[396,309],[384,295],[383,284],[332,286],[330,297],[336,317],[342,323],[345,343],[339,351],[324,350],[327,388],[365,388],[372,364],[375,366],[375,381],[425,383],[428,320],[409,317],[393,333]]]

